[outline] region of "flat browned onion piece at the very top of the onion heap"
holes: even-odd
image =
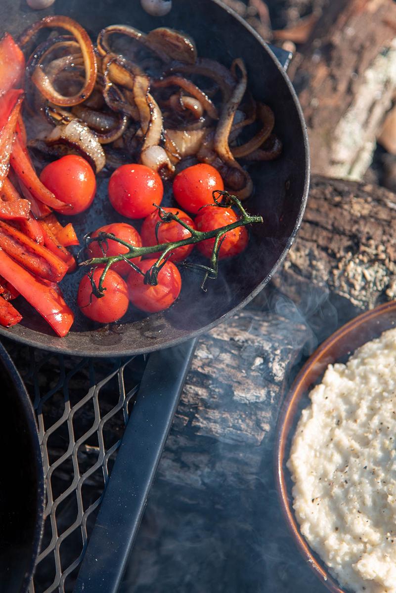
[[[169,29],[158,27],[150,31],[145,44],[156,52],[163,51],[172,60],[194,64],[197,60],[197,49],[190,37]]]

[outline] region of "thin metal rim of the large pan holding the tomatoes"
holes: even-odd
[[[294,102],[296,110],[297,110],[298,119],[301,124],[301,131],[302,131],[302,136],[304,138],[304,149],[305,149],[304,193],[302,195],[301,206],[299,209],[295,227],[293,228],[292,234],[290,235],[290,237],[288,239],[288,243],[286,244],[285,249],[282,251],[282,254],[280,254],[280,257],[277,260],[276,264],[273,266],[272,270],[270,270],[270,272],[266,276],[266,278],[264,278],[264,280],[262,282],[260,282],[260,284],[250,293],[250,295],[248,295],[248,297],[246,297],[243,301],[239,302],[238,305],[235,305],[234,308],[230,309],[227,313],[222,315],[222,317],[219,317],[215,321],[212,321],[212,323],[209,323],[206,326],[201,327],[198,330],[187,332],[185,336],[181,336],[174,340],[169,340],[168,342],[164,342],[163,344],[156,346],[155,349],[147,346],[145,348],[133,348],[132,347],[129,349],[117,350],[116,347],[114,347],[114,348],[108,348],[107,350],[99,350],[99,351],[95,352],[94,351],[95,345],[92,345],[92,350],[72,350],[66,346],[62,346],[62,338],[59,338],[59,346],[46,345],[45,347],[43,347],[41,345],[37,346],[37,342],[35,340],[31,340],[31,339],[25,338],[23,336],[16,336],[16,335],[14,336],[12,334],[12,331],[5,330],[1,326],[0,326],[0,335],[6,336],[12,340],[15,340],[15,342],[20,342],[20,343],[26,344],[28,346],[39,347],[43,350],[47,350],[48,352],[56,352],[57,354],[68,354],[70,356],[88,356],[88,357],[94,356],[94,358],[109,358],[109,357],[115,358],[115,357],[119,357],[119,356],[135,356],[138,354],[148,354],[150,352],[153,352],[153,350],[164,350],[165,348],[168,348],[171,346],[177,346],[178,344],[186,342],[187,340],[190,340],[191,338],[195,338],[195,337],[202,335],[203,333],[206,333],[207,331],[211,330],[213,327],[218,326],[225,319],[231,317],[232,315],[237,313],[237,311],[239,311],[243,307],[245,307],[245,305],[247,305],[248,302],[250,302],[254,297],[256,297],[259,292],[261,292],[261,290],[264,288],[264,286],[266,286],[266,284],[272,278],[274,272],[276,272],[276,270],[279,268],[280,264],[285,259],[286,254],[288,253],[290,247],[292,246],[293,241],[295,240],[296,234],[298,232],[298,229],[301,225],[302,217],[304,216],[306,200],[308,199],[310,163],[309,163],[308,134],[306,132],[306,124],[305,124],[305,120],[304,120],[304,115],[302,113],[301,105],[300,105],[298,97],[296,95],[296,91],[294,90],[289,77],[286,75],[284,69],[282,68],[282,65],[280,64],[279,60],[277,60],[277,58],[274,56],[273,52],[270,50],[267,43],[264,42],[262,37],[260,37],[260,35],[254,30],[254,28],[251,27],[251,25],[248,24],[242,17],[240,17],[237,14],[237,12],[235,12],[232,8],[229,8],[228,6],[223,4],[223,2],[221,0],[211,0],[211,1],[214,4],[217,4],[219,7],[221,7],[226,12],[228,12],[228,14],[230,14],[239,23],[241,23],[241,25],[248,31],[248,33],[250,33],[254,37],[254,39],[256,39],[258,43],[260,43],[261,47],[263,47],[263,49],[270,56],[274,65],[276,66],[280,76],[282,76],[283,80],[285,81],[290,95],[292,95],[292,99],[293,99],[293,102]]]

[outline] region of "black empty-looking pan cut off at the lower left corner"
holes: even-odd
[[[0,591],[25,593],[43,525],[43,464],[30,399],[1,343],[0,384]]]

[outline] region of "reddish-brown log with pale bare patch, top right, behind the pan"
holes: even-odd
[[[293,73],[313,173],[362,180],[396,91],[396,3],[331,2]]]

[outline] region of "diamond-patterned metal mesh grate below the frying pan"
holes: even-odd
[[[79,359],[7,345],[33,400],[46,482],[30,593],[73,590],[144,370],[143,356]]]

